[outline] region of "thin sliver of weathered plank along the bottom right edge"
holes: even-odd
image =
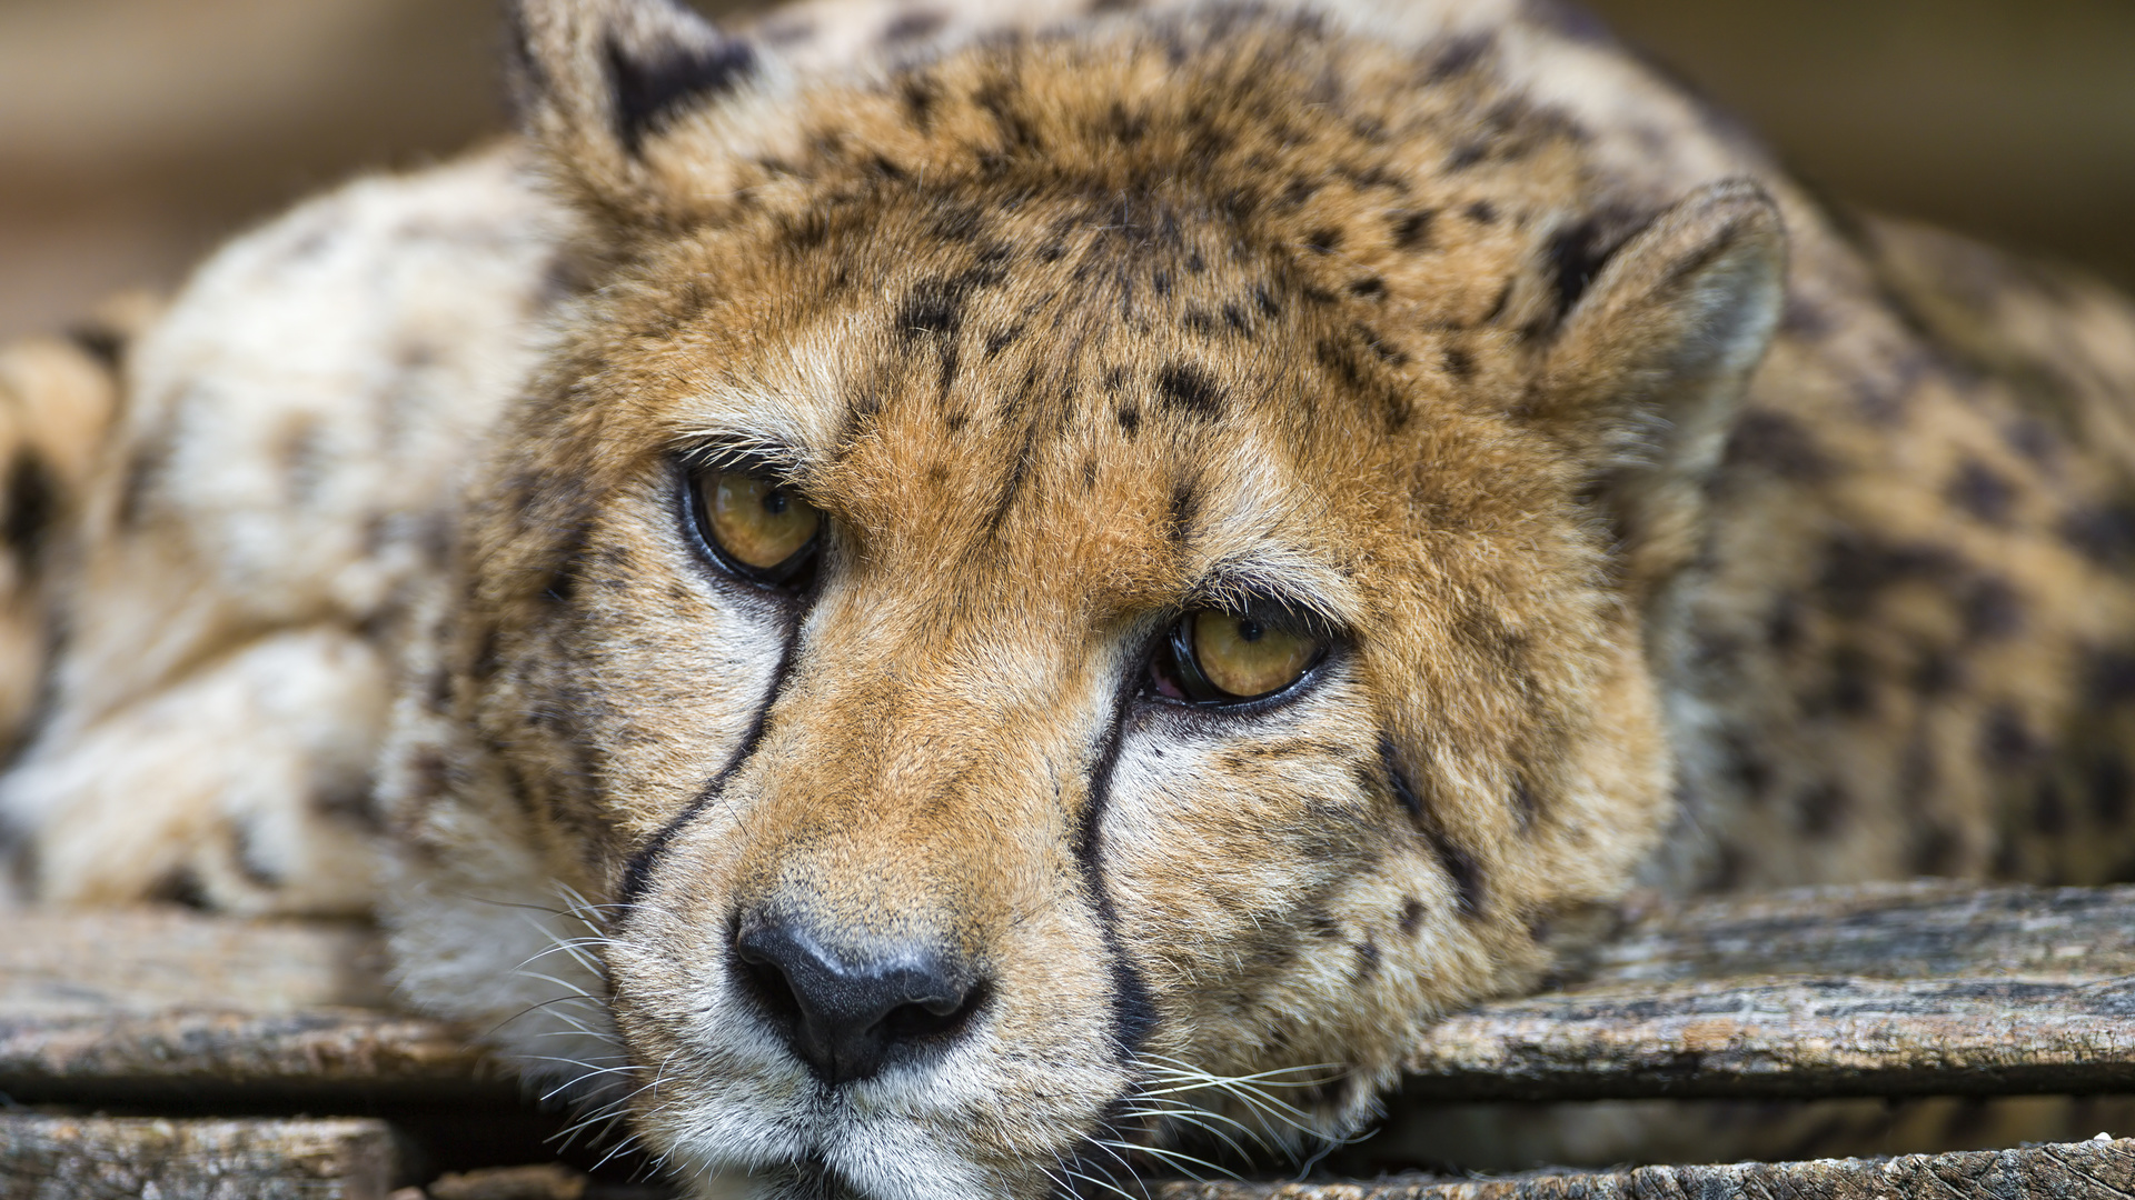
[[[2131,1194],[2135,1140],[1889,1159],[1155,1189],[1157,1200],[2126,1200]]]

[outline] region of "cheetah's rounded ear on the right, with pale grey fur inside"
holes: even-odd
[[[1548,352],[1531,412],[1591,472],[1633,589],[1697,553],[1706,480],[1772,344],[1785,275],[1764,188],[1710,184],[1610,256]]]

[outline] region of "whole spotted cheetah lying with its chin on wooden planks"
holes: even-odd
[[[23,901],[376,910],[698,1196],[920,1200],[1351,1130],[1631,886],[2135,878],[2135,310],[1573,9],[510,43],[9,512]]]

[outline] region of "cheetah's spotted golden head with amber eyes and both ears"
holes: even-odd
[[[1428,329],[1469,297],[1401,220],[1264,194],[1249,113],[1386,53],[1319,23],[833,88],[651,0],[523,17],[602,282],[476,493],[459,777],[600,901],[668,1164],[1044,1196],[1294,1144],[1623,884],[1640,589],[1770,335],[1761,194],[1657,216],[1546,337]]]

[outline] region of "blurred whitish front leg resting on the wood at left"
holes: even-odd
[[[374,897],[376,647],[260,636],[36,749],[0,781],[34,903],[359,914]]]

